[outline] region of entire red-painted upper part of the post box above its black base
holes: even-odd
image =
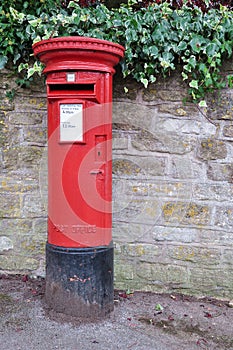
[[[63,37],[36,43],[33,50],[47,75],[48,243],[108,246],[112,75],[124,48],[100,39]],[[69,128],[77,129],[75,139]]]

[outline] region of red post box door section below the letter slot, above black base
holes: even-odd
[[[49,234],[63,247],[111,241],[109,106],[87,100],[49,101]]]

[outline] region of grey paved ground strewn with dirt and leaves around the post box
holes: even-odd
[[[46,308],[44,280],[0,276],[0,349],[233,349],[233,308],[227,301],[180,295],[116,292],[103,321]]]

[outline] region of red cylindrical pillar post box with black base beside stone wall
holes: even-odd
[[[80,317],[113,309],[112,75],[124,48],[63,37],[33,45],[48,98],[46,301]]]

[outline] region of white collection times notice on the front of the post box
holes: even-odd
[[[60,141],[83,141],[83,105],[60,104]]]

